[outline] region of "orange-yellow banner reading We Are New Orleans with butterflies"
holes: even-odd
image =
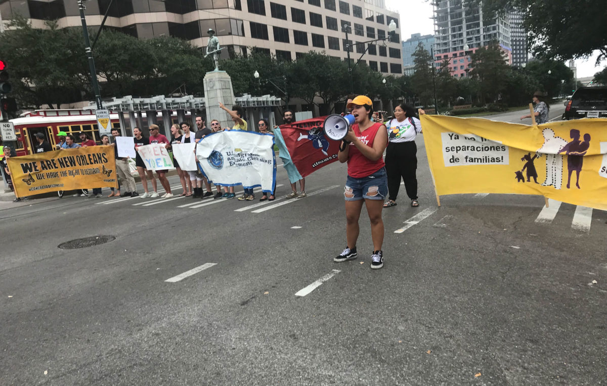
[[[90,146],[8,159],[17,197],[58,190],[118,187],[114,147]]]

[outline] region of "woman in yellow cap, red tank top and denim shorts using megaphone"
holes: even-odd
[[[347,107],[351,108],[355,123],[348,129],[337,153],[339,162],[348,162],[348,178],[344,188],[347,245],[333,261],[342,262],[356,258],[358,221],[364,202],[373,239],[371,268],[377,269],[384,266],[384,222],[381,212],[388,187],[382,156],[388,135],[385,125],[370,121],[373,114],[371,99],[359,95]]]

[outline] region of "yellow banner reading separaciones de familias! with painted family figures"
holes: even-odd
[[[437,195],[541,195],[607,210],[607,119],[528,126],[422,115]]]

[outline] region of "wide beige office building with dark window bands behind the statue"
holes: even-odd
[[[110,0],[86,1],[87,24],[101,25]],[[80,27],[77,0],[0,0],[1,19],[20,13],[34,27],[56,19],[59,27]],[[343,26],[351,42],[387,36],[394,20],[395,36],[386,44],[350,45],[354,61],[385,74],[401,75],[399,15],[384,0],[118,0],[112,2],[105,25],[138,38],[175,36],[206,47],[212,28],[226,50],[222,57],[246,54],[249,47],[294,60],[311,50],[347,58]]]

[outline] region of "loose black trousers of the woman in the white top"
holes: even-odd
[[[410,199],[417,196],[417,146],[415,141],[388,142],[385,150],[385,171],[388,175],[388,198],[396,201],[401,187],[401,178]]]

